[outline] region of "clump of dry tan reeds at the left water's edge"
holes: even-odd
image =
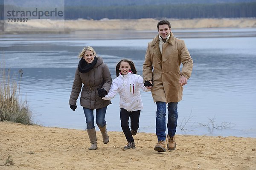
[[[17,81],[11,77],[10,69],[6,70],[4,59],[0,65],[2,66],[0,68],[0,121],[32,125],[32,112],[29,110],[26,99],[22,99],[20,91],[22,70],[19,71]]]

